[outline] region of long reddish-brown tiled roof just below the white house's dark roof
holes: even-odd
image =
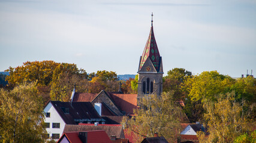
[[[79,125],[65,125],[65,132],[82,132],[85,130],[105,130],[109,138],[116,136],[116,138],[125,138],[124,130],[121,125],[98,125],[94,124],[79,124]]]

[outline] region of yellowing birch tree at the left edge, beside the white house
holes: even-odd
[[[0,91],[0,142],[44,142],[43,100],[35,83]]]

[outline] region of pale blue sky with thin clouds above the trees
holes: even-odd
[[[256,1],[0,0],[0,71],[26,61],[136,74],[150,14],[164,72],[256,75]]]

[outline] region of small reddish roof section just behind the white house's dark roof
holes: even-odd
[[[73,102],[91,102],[97,97],[98,94],[90,94],[90,93],[75,93]]]

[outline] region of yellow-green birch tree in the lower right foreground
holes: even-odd
[[[237,102],[234,92],[220,94],[217,101],[204,102],[204,108],[204,121],[209,136],[203,139],[205,136],[199,133],[199,138],[203,139],[200,142],[233,142],[255,122],[248,119],[250,112],[243,110],[243,101]]]

